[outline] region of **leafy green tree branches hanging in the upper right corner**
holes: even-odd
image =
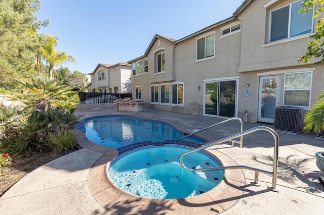
[[[314,18],[318,17],[322,12],[324,12],[324,8],[322,7],[324,4],[324,0],[314,0],[314,1],[301,1],[304,6],[303,9],[299,11],[299,13],[308,13],[314,10]],[[320,19],[317,21],[315,34],[309,36],[314,39],[313,41],[307,44],[306,54],[298,59],[298,62],[302,64],[310,63],[311,58],[317,58],[318,61],[315,64],[323,64],[324,63],[324,19]]]

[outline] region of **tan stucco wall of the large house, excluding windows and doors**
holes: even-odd
[[[244,112],[252,113],[251,122],[257,122],[259,102],[259,80],[268,74],[280,75],[280,98],[282,105],[285,73],[296,69],[315,68],[312,75],[311,105],[324,90],[324,67],[322,65],[301,65],[297,59],[302,56],[310,39],[291,39],[285,42],[268,44],[269,14],[271,10],[286,6],[296,1],[277,1],[265,9],[268,0],[253,1],[236,20],[210,29],[199,35],[170,44],[156,39],[148,52],[149,72],[133,76],[133,94],[135,86],[142,86],[142,98],[146,106],[153,109],[179,113],[203,115],[204,79],[238,77],[237,117],[244,117]],[[220,29],[231,23],[241,21],[241,32],[220,38]],[[216,32],[215,58],[196,62],[196,38]],[[159,41],[159,45],[158,45]],[[154,75],[154,51],[165,47],[166,72]],[[259,74],[259,75],[258,75]],[[150,104],[150,85],[161,83],[184,83],[184,105]],[[249,83],[249,87],[246,84]],[[200,89],[199,89],[200,86]],[[244,90],[250,89],[251,96],[244,96]],[[244,119],[245,121],[245,119]]]

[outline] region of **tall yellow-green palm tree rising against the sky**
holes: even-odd
[[[57,39],[53,36],[46,35],[46,45],[41,48],[41,55],[49,64],[49,77],[53,78],[54,67],[60,66],[67,62],[76,63],[75,59],[67,55],[65,52],[60,52],[56,49]]]

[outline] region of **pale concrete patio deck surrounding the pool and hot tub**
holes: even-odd
[[[104,108],[77,109],[76,115],[89,118],[129,115],[165,121],[185,133],[192,133],[224,119],[185,115],[146,109],[142,113]],[[259,126],[244,123],[244,130]],[[271,127],[271,126],[270,126]],[[77,132],[77,131],[76,131]],[[238,122],[228,122],[199,133],[212,141],[239,132]],[[315,153],[324,151],[324,141],[314,134],[278,133],[279,167],[277,188],[272,177],[260,173],[260,187],[250,184],[254,172],[226,170],[215,189],[193,198],[147,199],[120,191],[106,175],[106,166],[117,150],[96,145],[80,136],[83,149],[60,157],[34,170],[0,198],[0,211],[6,214],[321,214],[324,186],[318,181],[324,173],[315,165]],[[270,133],[258,131],[243,138],[243,147],[229,142],[213,146],[223,164],[245,165],[272,170],[274,140]]]

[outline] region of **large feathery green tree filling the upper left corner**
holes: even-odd
[[[49,22],[34,16],[40,7],[39,0],[0,1],[0,87],[15,89],[14,78],[33,75],[33,53],[39,43],[30,32]]]

